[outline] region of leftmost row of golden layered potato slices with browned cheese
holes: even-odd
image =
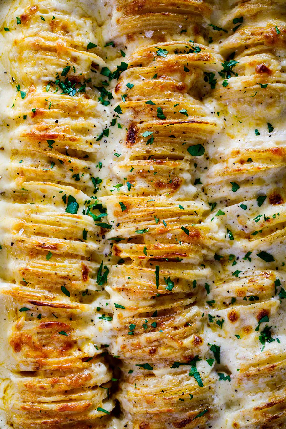
[[[97,279],[98,26],[78,5],[53,0],[11,6],[4,25],[13,94],[2,106],[0,202],[7,427],[106,427],[114,401]]]

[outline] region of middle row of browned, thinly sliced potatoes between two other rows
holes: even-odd
[[[223,62],[200,28],[211,12],[207,2],[122,1],[111,19],[129,55],[113,93],[126,128],[113,167],[122,186],[101,199],[121,258],[106,290],[115,307],[111,351],[121,360],[117,398],[134,429],[205,427],[217,408],[205,300],[224,234],[206,221],[210,206],[196,186],[221,130],[202,103],[206,73]]]

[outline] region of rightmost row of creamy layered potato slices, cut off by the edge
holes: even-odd
[[[220,425],[277,428],[286,422],[285,2],[237,2],[221,27],[231,22],[239,27],[215,48],[233,67],[211,94],[225,137],[210,149],[205,179],[231,240],[217,252],[209,338],[220,317],[231,374]]]

